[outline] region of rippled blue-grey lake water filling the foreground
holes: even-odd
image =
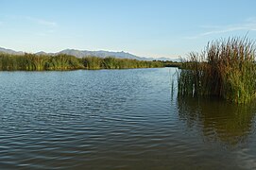
[[[255,169],[255,107],[177,99],[174,73],[0,72],[0,169]]]

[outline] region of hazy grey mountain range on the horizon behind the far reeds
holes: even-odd
[[[14,51],[11,49],[6,49],[0,47],[0,53],[8,53],[12,55],[23,55],[25,52],[23,51]],[[135,55],[132,55],[130,53],[121,51],[121,52],[111,52],[111,51],[88,51],[88,50],[76,50],[76,49],[65,49],[57,53],[45,53],[43,51],[35,53],[36,55],[58,55],[58,54],[66,54],[66,55],[72,55],[76,56],[77,58],[83,58],[88,56],[96,56],[99,58],[106,58],[106,57],[114,57],[114,58],[120,58],[120,59],[138,59],[138,60],[173,60],[178,61],[178,59],[170,59],[170,58],[145,58],[145,57],[138,57]]]

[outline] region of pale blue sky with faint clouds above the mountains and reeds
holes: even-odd
[[[185,57],[229,36],[256,39],[254,0],[0,0],[0,47]]]

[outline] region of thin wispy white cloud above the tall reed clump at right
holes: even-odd
[[[201,37],[213,35],[213,34],[222,34],[233,31],[256,31],[256,18],[247,18],[247,20],[240,25],[229,25],[229,26],[200,26],[204,29],[210,29],[208,31],[197,34],[196,36],[185,37],[185,39],[198,39]]]

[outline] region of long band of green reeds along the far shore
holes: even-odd
[[[10,55],[0,54],[1,71],[46,71],[46,70],[76,70],[76,69],[129,69],[163,67],[160,61],[145,61],[137,59],[116,59],[112,57],[76,58],[60,54],[50,55]]]

